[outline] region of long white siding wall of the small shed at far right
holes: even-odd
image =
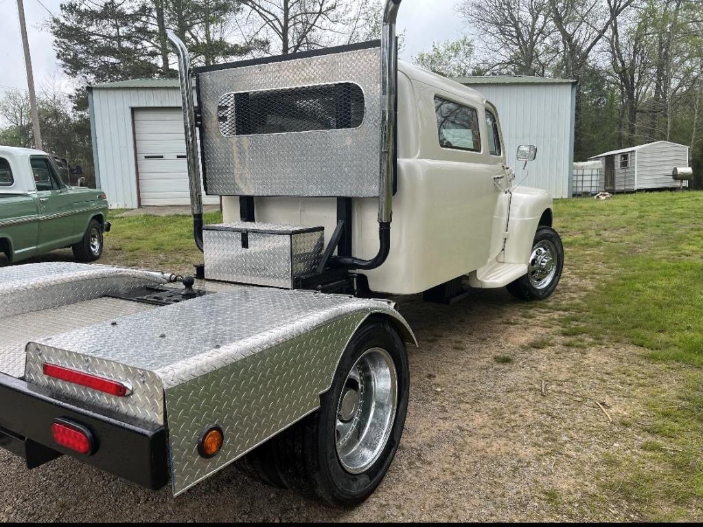
[[[643,146],[637,150],[637,189],[680,187],[671,177],[674,167],[688,167],[688,146],[666,141]]]

